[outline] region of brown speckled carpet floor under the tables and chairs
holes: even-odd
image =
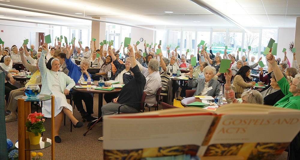
[[[103,100],[105,103],[105,100]],[[84,104],[84,103],[83,103]],[[85,108],[85,105],[84,105]],[[161,106],[159,107],[161,109]],[[32,107],[32,112],[36,110]],[[154,110],[154,109],[153,109]],[[41,110],[39,110],[41,112]],[[73,109],[73,115],[77,120],[82,121],[79,112],[76,107]],[[94,95],[94,114],[98,115],[98,94]],[[43,133],[43,137],[50,137],[50,119],[46,119],[44,126],[46,131]],[[92,130],[90,130],[86,136],[83,133],[86,132],[88,122],[85,122],[84,126],[81,128],[72,128],[70,132],[70,120],[66,118],[66,125],[63,123],[60,128],[59,136],[61,138],[61,143],[55,143],[55,160],[102,160],[103,159],[103,142],[98,141],[98,138],[102,136],[102,122],[96,124]],[[6,123],[6,134],[7,138],[16,142],[18,138],[18,124],[17,121]],[[43,159],[51,159],[51,147],[43,150],[38,150],[35,152],[42,152],[44,154]],[[285,160],[287,157],[287,152],[284,152],[278,160]]]

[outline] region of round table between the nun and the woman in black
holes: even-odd
[[[94,83],[98,84],[98,81],[95,81]],[[80,83],[76,84],[76,86],[79,86],[79,85],[81,85],[81,84]],[[75,88],[75,87],[73,87],[73,90],[78,91],[78,92],[99,94],[99,96],[98,96],[98,117],[94,121],[89,122],[88,127],[93,125],[102,116],[101,107],[103,106],[103,94],[105,94],[105,93],[118,93],[118,92],[121,91],[121,89],[122,88],[116,88],[116,89],[111,90],[111,91],[104,91],[104,90],[97,90],[97,89],[94,89],[94,88],[86,89],[86,88]]]

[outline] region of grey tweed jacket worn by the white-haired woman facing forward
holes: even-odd
[[[199,95],[200,92],[204,89],[204,82],[205,82],[204,78],[196,78],[196,79],[193,79],[193,78],[190,78],[190,77],[188,78],[187,86],[189,86],[191,88],[196,88],[197,87],[197,90],[196,90],[196,92],[194,93],[193,96]],[[208,87],[212,87],[211,90],[207,91],[208,96],[214,97],[214,96],[219,95],[219,93],[220,93],[220,83],[217,80],[211,79],[208,82]]]

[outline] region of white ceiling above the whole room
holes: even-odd
[[[78,12],[85,13],[79,16],[102,17],[108,21],[131,25],[233,26],[189,0],[10,0],[10,2],[0,2],[71,15],[76,15],[74,13]],[[205,0],[205,2],[244,27],[295,27],[296,17],[300,16],[300,0],[288,0],[288,4],[287,0]],[[164,11],[174,13],[164,13]],[[91,25],[91,21],[88,20],[6,8],[0,8],[0,15],[61,25]]]

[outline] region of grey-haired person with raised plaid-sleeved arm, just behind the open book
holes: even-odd
[[[263,104],[262,95],[256,91],[246,91],[243,92],[241,95],[242,101],[239,101],[235,98],[235,92],[231,88],[230,80],[232,77],[232,71],[227,69],[228,71],[225,72],[225,87],[224,87],[224,95],[228,104],[230,103],[256,103],[256,104]]]

